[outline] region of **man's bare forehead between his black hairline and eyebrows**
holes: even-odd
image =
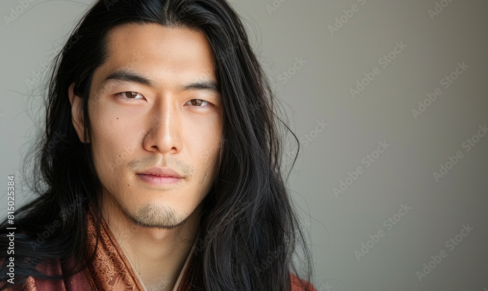
[[[156,83],[216,80],[213,50],[201,31],[126,24],[108,32],[107,49],[108,58],[95,72],[94,85],[120,69],[151,76]]]

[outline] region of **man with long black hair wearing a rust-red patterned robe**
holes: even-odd
[[[50,80],[2,288],[314,290],[271,98],[224,0],[96,2]]]

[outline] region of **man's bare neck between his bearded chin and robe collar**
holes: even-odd
[[[107,201],[109,200],[109,201]],[[203,202],[177,228],[134,225],[110,199],[103,218],[147,290],[172,291],[197,238]]]

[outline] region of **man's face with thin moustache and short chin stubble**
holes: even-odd
[[[223,104],[212,48],[201,32],[159,24],[117,27],[108,40],[88,103],[102,195],[136,225],[171,229],[215,179]],[[153,167],[183,178],[152,175]]]

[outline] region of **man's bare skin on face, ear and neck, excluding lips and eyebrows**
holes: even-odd
[[[217,82],[213,50],[202,32],[159,24],[116,27],[108,48],[108,60],[92,79],[89,140],[83,139],[82,100],[73,93],[74,83],[68,89],[73,125],[80,140],[91,144],[109,228],[145,288],[171,291],[196,240],[202,201],[218,165],[221,95],[182,89]],[[103,82],[121,69],[152,84]],[[164,186],[138,178],[153,166],[171,167],[184,178]]]

